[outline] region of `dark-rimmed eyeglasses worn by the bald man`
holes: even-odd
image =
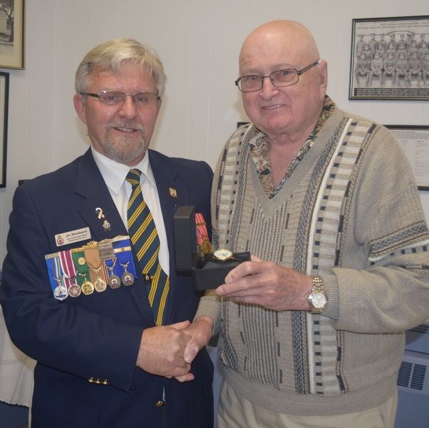
[[[321,59],[309,66],[296,70],[296,68],[285,68],[284,70],[273,71],[269,76],[259,76],[259,74],[251,74],[249,76],[242,76],[237,78],[235,84],[242,92],[260,91],[264,86],[264,78],[269,78],[273,86],[282,88],[284,86],[291,86],[298,82],[299,76],[308,71],[310,68],[319,65]]]

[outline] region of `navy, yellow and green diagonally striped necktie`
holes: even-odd
[[[133,188],[130,200],[128,200],[128,233],[148,287],[148,299],[155,323],[162,325],[165,322],[170,278],[162,270],[158,260],[160,238],[158,238],[153,216],[143,199],[140,175],[140,170],[131,169],[125,178]]]

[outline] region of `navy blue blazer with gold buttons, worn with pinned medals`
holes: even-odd
[[[212,170],[205,162],[148,153],[170,251],[166,324],[192,321],[199,295],[192,278],[175,270],[172,218],[178,206],[195,205],[210,225]],[[96,208],[111,230],[103,228]],[[54,238],[86,227],[95,241],[128,235],[91,150],[17,188],[0,302],[12,341],[38,362],[32,427],[157,428],[161,410],[155,403],[165,391],[169,428],[211,428],[213,365],[206,350],[192,363],[191,382],[135,367],[142,331],[155,325],[141,275],[129,287],[63,301],[53,297],[44,256],[86,244],[58,248]],[[91,377],[108,384],[88,382]]]

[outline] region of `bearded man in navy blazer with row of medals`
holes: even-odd
[[[78,67],[73,98],[91,148],[14,195],[0,302],[11,339],[37,360],[33,428],[212,427],[212,362],[205,350],[192,364],[184,357],[199,295],[175,271],[172,230],[180,205],[210,225],[212,170],[148,148],[164,89],[147,47],[96,46]],[[143,275],[128,238],[130,169],[141,172],[159,239],[161,321],[151,307],[155,276]]]

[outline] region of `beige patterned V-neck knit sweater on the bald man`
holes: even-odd
[[[220,330],[225,379],[275,412],[375,407],[396,389],[404,334],[429,318],[429,233],[413,174],[383,126],[338,108],[274,198],[249,158],[253,125],[219,157],[215,248],[320,275],[321,315],[244,305],[208,292],[196,316]]]

